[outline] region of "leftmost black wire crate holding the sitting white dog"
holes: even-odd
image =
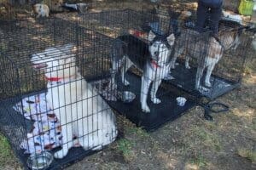
[[[108,105],[113,38],[61,19],[0,22],[0,130],[26,169],[60,169],[123,133]]]

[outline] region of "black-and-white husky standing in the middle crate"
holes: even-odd
[[[121,69],[122,82],[127,86],[129,82],[125,80],[125,72],[132,65],[143,71],[140,102],[144,112],[150,112],[147,105],[148,88],[153,82],[151,88],[151,101],[154,104],[160,104],[160,99],[155,94],[160,86],[161,80],[165,78],[170,70],[170,55],[175,37],[173,34],[169,36],[158,36],[152,31],[148,33],[148,42],[131,36],[125,35],[118,37],[113,42],[112,47],[112,69],[113,82],[114,75],[119,67]],[[119,65],[121,63],[121,65]]]

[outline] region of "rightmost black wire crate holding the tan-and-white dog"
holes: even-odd
[[[176,78],[169,82],[213,100],[241,84],[250,36],[247,26],[236,21],[220,20],[218,37],[212,37],[207,27],[197,33],[189,26],[192,22],[180,29],[171,62]]]

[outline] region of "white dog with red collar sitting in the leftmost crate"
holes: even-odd
[[[55,158],[67,156],[77,136],[84,150],[100,150],[116,139],[113,111],[84,80],[75,64],[76,48],[67,44],[32,54],[34,68],[44,69],[48,80],[46,101],[61,123],[62,149]]]

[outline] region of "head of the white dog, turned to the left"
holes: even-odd
[[[70,77],[77,71],[75,65],[74,46],[46,48],[44,52],[32,54],[33,68],[44,70],[46,77]]]

